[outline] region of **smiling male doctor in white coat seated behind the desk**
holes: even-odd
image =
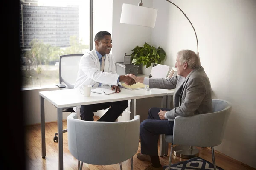
[[[95,49],[81,57],[74,88],[81,88],[83,85],[92,85],[93,87],[109,85],[112,90],[119,93],[121,91],[118,86],[119,82],[123,81],[127,85],[136,83],[131,77],[116,74],[115,59],[113,55],[109,54],[112,48],[112,38],[109,32],[98,32],[95,35],[94,43]],[[81,107],[76,107],[76,113],[80,108],[81,119],[93,121],[93,111],[109,108],[98,121],[114,122],[127,107],[127,100],[81,105]]]

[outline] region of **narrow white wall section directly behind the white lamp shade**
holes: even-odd
[[[137,45],[151,43],[151,28],[120,23],[122,4],[138,5],[139,2],[140,0],[113,0],[112,54],[116,62],[123,62],[125,53],[131,54],[131,50]],[[152,0],[143,1],[143,6],[151,7]]]

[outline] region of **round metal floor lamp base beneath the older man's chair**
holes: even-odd
[[[178,145],[173,147],[173,154],[180,158],[194,158],[199,154],[199,150],[195,147]]]

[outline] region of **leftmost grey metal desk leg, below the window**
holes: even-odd
[[[41,115],[41,149],[42,149],[42,158],[46,156],[45,148],[45,117],[44,117],[44,98],[40,96],[40,115]]]

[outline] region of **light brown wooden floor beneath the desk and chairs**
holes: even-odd
[[[63,128],[67,128],[67,121],[63,122]],[[45,125],[46,133],[46,158],[41,157],[41,127],[40,125],[33,125],[25,127],[26,135],[26,169],[27,170],[58,170],[58,143],[53,142],[54,134],[57,132],[57,122],[47,123]],[[64,149],[64,169],[77,170],[78,161],[68,150],[67,133],[63,133],[63,149]],[[211,150],[209,148],[198,148],[200,150],[199,156],[207,161],[212,162]],[[137,153],[140,153],[140,144]],[[133,156],[134,170],[144,170],[149,162],[140,161],[136,155]],[[170,144],[169,152],[170,153]],[[172,155],[172,164],[187,159],[181,159]],[[168,165],[169,156],[160,158],[162,165]],[[224,170],[253,170],[241,164],[239,161],[228,156],[215,152],[216,165]],[[15,163],[15,161],[14,161]],[[131,169],[131,161],[126,160],[122,162],[123,170]],[[96,166],[84,164],[83,170],[118,170],[119,164]]]

